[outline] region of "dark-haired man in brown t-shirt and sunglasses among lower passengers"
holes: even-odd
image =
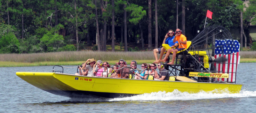
[[[130,70],[128,68],[123,68],[124,67],[124,60],[120,59],[118,64],[120,65],[120,68],[116,70],[116,73],[112,74],[110,78],[123,78],[123,79],[128,79],[129,78],[129,72]],[[120,76],[118,76],[118,74]]]

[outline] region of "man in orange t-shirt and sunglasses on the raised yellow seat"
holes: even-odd
[[[167,57],[170,55],[170,53],[173,52],[172,53],[172,61],[170,63],[168,63],[168,64],[170,64],[170,65],[174,64],[174,60],[176,58],[176,53],[178,51],[181,51],[181,50],[187,48],[187,37],[185,35],[181,34],[181,30],[180,29],[176,29],[176,34],[175,34],[175,37],[173,39],[173,43],[175,41],[179,42],[179,48],[168,49],[164,59],[160,60],[161,62],[165,62]]]

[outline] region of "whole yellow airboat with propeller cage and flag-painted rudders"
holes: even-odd
[[[190,42],[188,48],[176,55],[175,64],[164,64],[169,80],[154,80],[154,75],[145,80],[132,79],[132,72],[129,79],[80,76],[65,74],[63,68],[16,75],[37,88],[66,97],[118,98],[174,90],[239,93],[242,84],[236,84],[236,70],[240,44],[230,32],[223,26],[209,26]]]

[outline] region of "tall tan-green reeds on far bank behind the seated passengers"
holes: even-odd
[[[86,61],[89,58],[102,61],[113,60],[152,60],[155,59],[152,51],[139,52],[110,52],[110,51],[63,51],[31,54],[0,54],[0,61],[7,62],[67,62]]]

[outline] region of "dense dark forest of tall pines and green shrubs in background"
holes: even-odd
[[[241,47],[254,49],[256,0],[1,0],[0,53],[152,50],[169,29],[192,40],[207,9],[213,12],[207,26],[238,28]]]

